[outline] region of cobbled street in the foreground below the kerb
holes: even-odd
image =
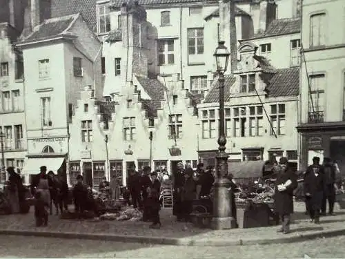
[[[0,236],[2,258],[345,258],[345,237],[245,247],[175,247],[91,240]]]

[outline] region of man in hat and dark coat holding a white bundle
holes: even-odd
[[[293,213],[293,190],[297,187],[297,175],[288,169],[288,159],[280,157],[280,171],[275,181],[275,211],[282,220],[279,232],[290,232],[290,214]]]

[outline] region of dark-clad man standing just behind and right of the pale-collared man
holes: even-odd
[[[328,215],[335,215],[333,213],[335,202],[335,166],[332,163],[331,158],[324,157],[324,195],[321,204],[321,215],[326,215],[326,202],[328,200]]]

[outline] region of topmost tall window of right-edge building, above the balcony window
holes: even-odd
[[[325,45],[326,14],[311,16],[311,47]]]

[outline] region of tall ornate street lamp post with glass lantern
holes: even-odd
[[[216,159],[216,179],[215,179],[215,199],[213,201],[213,220],[211,226],[213,229],[233,229],[236,227],[236,221],[232,215],[232,201],[228,189],[230,180],[226,178],[228,174],[228,154],[226,150],[226,136],[224,131],[224,73],[228,67],[230,53],[224,41],[219,41],[215,50],[215,59],[217,64],[217,73],[219,75],[219,137]]]

